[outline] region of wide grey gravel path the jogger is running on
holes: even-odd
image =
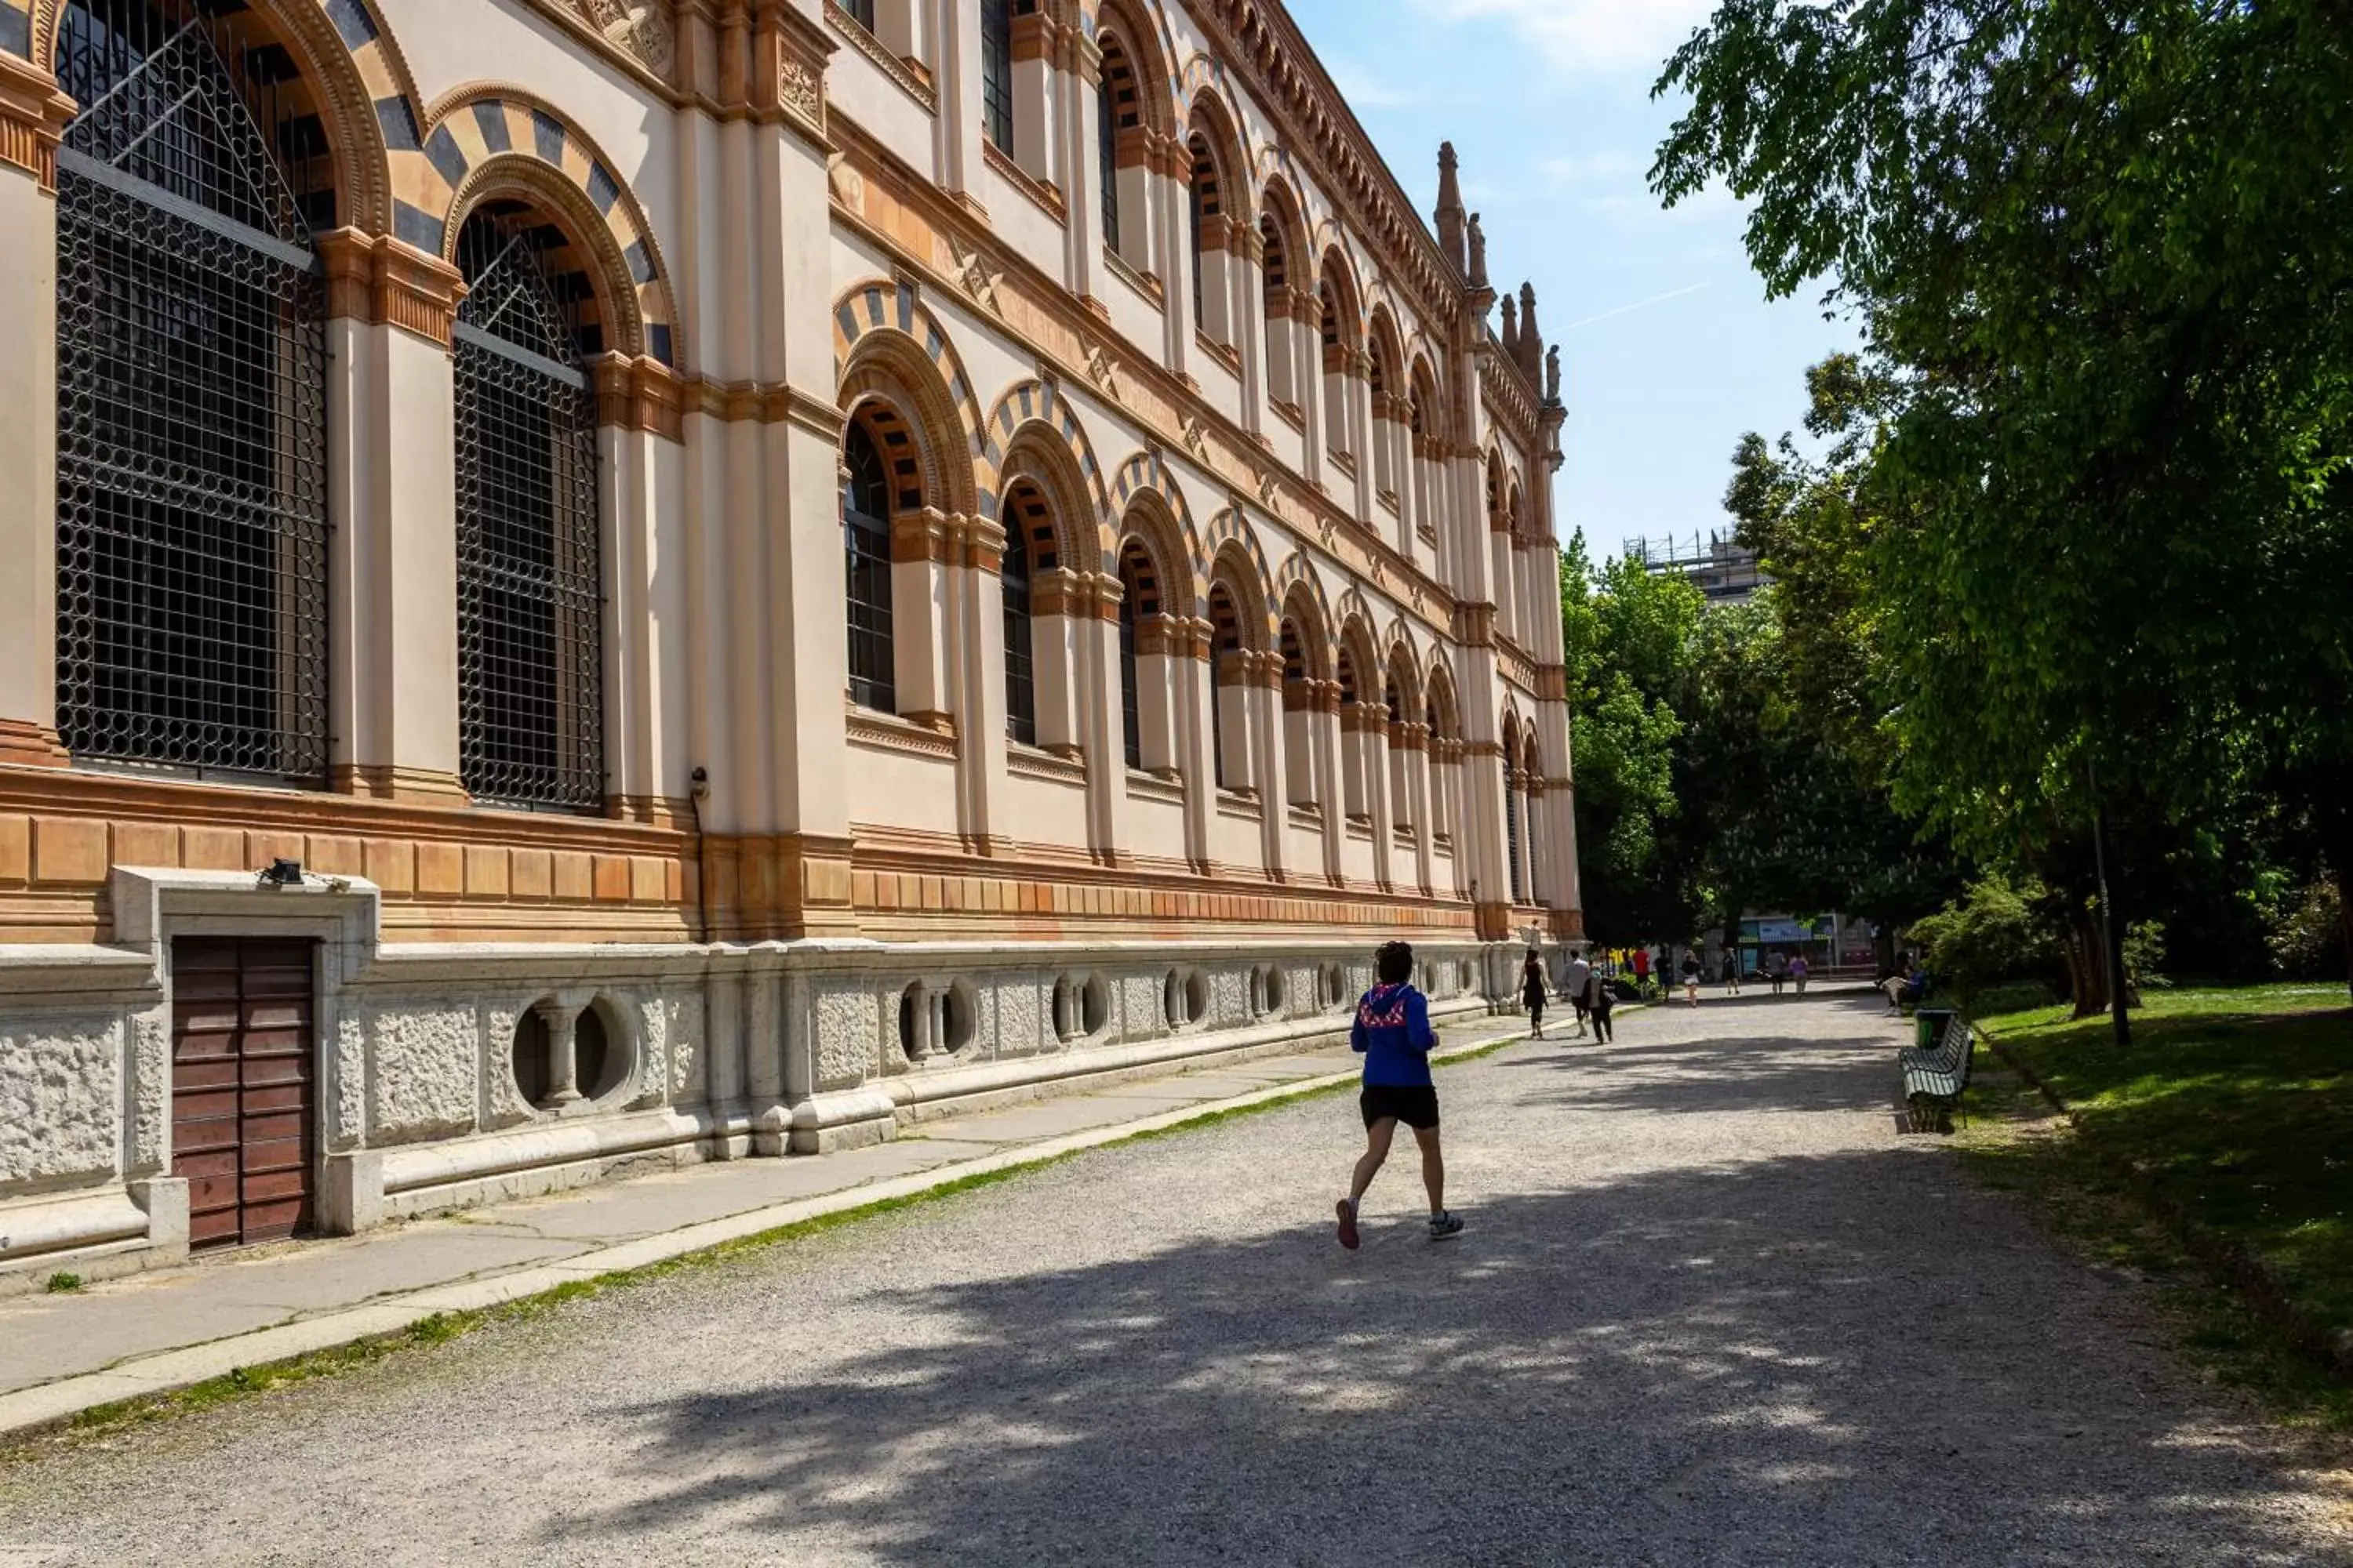
[[[0,1465],[0,1563],[2353,1563],[1875,1013],[1447,1070],[1459,1241],[1313,1100]]]

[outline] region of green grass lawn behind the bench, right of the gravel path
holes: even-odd
[[[2254,1251],[2320,1324],[2353,1333],[2353,1009],[2344,985],[2151,992],[2118,1051],[2106,1018],[2068,1009],[1981,1018],[2078,1114],[2078,1131],[1972,1140],[2005,1185],[2033,1187],[2064,1229],[2118,1262],[2177,1272],[2179,1251],[2139,1222],[2132,1171],[2205,1229]],[[1995,1088],[1988,1084],[1988,1088]],[[1988,1107],[1991,1110],[1991,1107]],[[2200,1312],[2207,1349],[2238,1352],[2275,1406],[2353,1427],[2353,1389],[2266,1359],[2249,1321]],[[2224,1316],[2233,1316],[2224,1312]],[[2235,1314],[2245,1319],[2245,1314]],[[2231,1340],[2245,1340],[2233,1345]]]

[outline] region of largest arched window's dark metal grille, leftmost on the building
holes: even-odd
[[[327,296],[273,155],[282,49],[68,5],[56,186],[56,701],[82,757],[327,771]],[[299,85],[299,82],[296,82]],[[264,129],[268,122],[268,132]]]

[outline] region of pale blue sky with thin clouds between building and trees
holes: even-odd
[[[1497,287],[1534,280],[1569,404],[1562,538],[1727,527],[1734,442],[1793,428],[1805,367],[1852,331],[1819,289],[1765,303],[1727,193],[1647,190],[1678,113],[1649,85],[1711,0],[1287,2],[1424,219],[1452,139]]]

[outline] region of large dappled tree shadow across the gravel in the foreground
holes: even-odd
[[[612,1410],[647,1495],[551,1544],[711,1528],[892,1563],[2344,1561],[2320,1544],[2327,1505],[2191,1406],[2125,1291],[1948,1161],[1885,1150],[1534,1192],[1445,1246],[1400,1222],[1346,1255],[1299,1225],[861,1312],[918,1342]]]

